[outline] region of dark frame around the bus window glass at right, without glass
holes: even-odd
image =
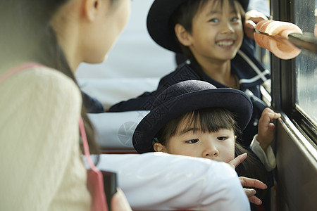
[[[301,4],[311,0],[301,0]],[[294,23],[294,1],[271,0],[271,14],[273,20],[281,20]],[[316,53],[317,58],[317,53]],[[297,75],[295,59],[281,60],[271,53],[271,76],[272,76],[272,106],[276,110],[284,112],[292,123],[299,129],[315,148],[317,143],[317,127],[313,120],[304,113],[296,103]],[[280,84],[280,86],[278,86]]]

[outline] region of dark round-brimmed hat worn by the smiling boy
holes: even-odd
[[[177,53],[182,53],[182,51],[174,38],[174,27],[170,26],[170,17],[186,1],[188,0],[155,0],[147,15],[147,30],[151,38],[163,48]],[[249,0],[237,1],[246,11]]]

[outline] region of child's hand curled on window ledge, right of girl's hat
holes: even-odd
[[[256,140],[259,141],[261,148],[266,152],[266,149],[272,143],[274,139],[274,123],[280,117],[280,113],[275,113],[270,108],[263,110],[262,115],[259,120],[258,136]]]

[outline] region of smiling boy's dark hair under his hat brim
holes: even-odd
[[[180,41],[178,41],[178,38],[175,35],[174,27],[176,24],[179,23],[185,28],[187,32],[192,33],[192,20],[194,18],[194,15],[196,15],[201,10],[201,8],[203,8],[208,3],[208,1],[211,0],[188,0],[184,4],[182,4],[170,18],[170,33],[174,35],[174,39],[178,42],[182,53],[192,62],[195,62],[192,51],[190,51],[189,47],[183,46]],[[222,6],[223,0],[220,1],[220,4]],[[239,6],[236,6],[235,0],[228,1],[236,13],[238,11],[241,13],[242,20],[244,20],[244,9],[242,8],[242,6],[240,4],[238,4]]]

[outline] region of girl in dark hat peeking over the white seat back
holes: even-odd
[[[209,158],[236,167],[246,158],[240,154],[247,151],[235,140],[249,123],[251,113],[251,101],[242,91],[216,89],[203,81],[179,82],[156,98],[150,113],[135,129],[133,145],[139,153],[156,151]],[[261,152],[259,157],[270,170],[275,167],[269,146],[274,137],[271,121],[279,117],[280,114],[266,108],[259,120],[259,134],[251,145]],[[256,145],[259,139],[263,140],[261,147]],[[260,179],[271,186],[271,175],[262,166],[250,151],[236,170],[239,176]],[[250,202],[260,205],[261,200],[253,195],[254,192],[249,196]]]

